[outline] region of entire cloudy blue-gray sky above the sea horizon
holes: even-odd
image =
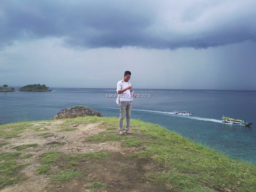
[[[0,86],[256,90],[255,0],[0,0]]]

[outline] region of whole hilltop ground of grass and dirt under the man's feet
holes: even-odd
[[[175,132],[87,116],[0,126],[0,190],[255,191],[255,165]],[[15,184],[15,185],[14,185]],[[1,190],[1,191],[2,191]]]

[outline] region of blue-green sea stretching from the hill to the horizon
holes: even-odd
[[[51,120],[60,110],[85,105],[119,117],[116,89],[51,88],[50,92],[0,92],[1,124]],[[134,89],[132,119],[156,123],[234,159],[256,165],[256,91]],[[174,110],[193,113],[180,116]],[[228,125],[222,116],[252,122]],[[118,127],[117,127],[118,129]],[[132,125],[131,125],[132,129]]]

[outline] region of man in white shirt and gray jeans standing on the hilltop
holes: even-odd
[[[124,72],[124,79],[117,82],[117,104],[119,104],[120,116],[119,116],[119,134],[123,134],[123,121],[124,114],[126,113],[126,126],[125,132],[127,134],[132,134],[130,132],[130,120],[131,120],[131,110],[132,110],[132,100],[136,97],[136,94],[132,91],[132,84],[129,82],[131,78],[131,72]]]

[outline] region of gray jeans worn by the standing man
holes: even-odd
[[[119,103],[120,116],[119,116],[119,130],[122,131],[124,114],[126,114],[125,131],[130,129],[132,101],[120,101]]]

